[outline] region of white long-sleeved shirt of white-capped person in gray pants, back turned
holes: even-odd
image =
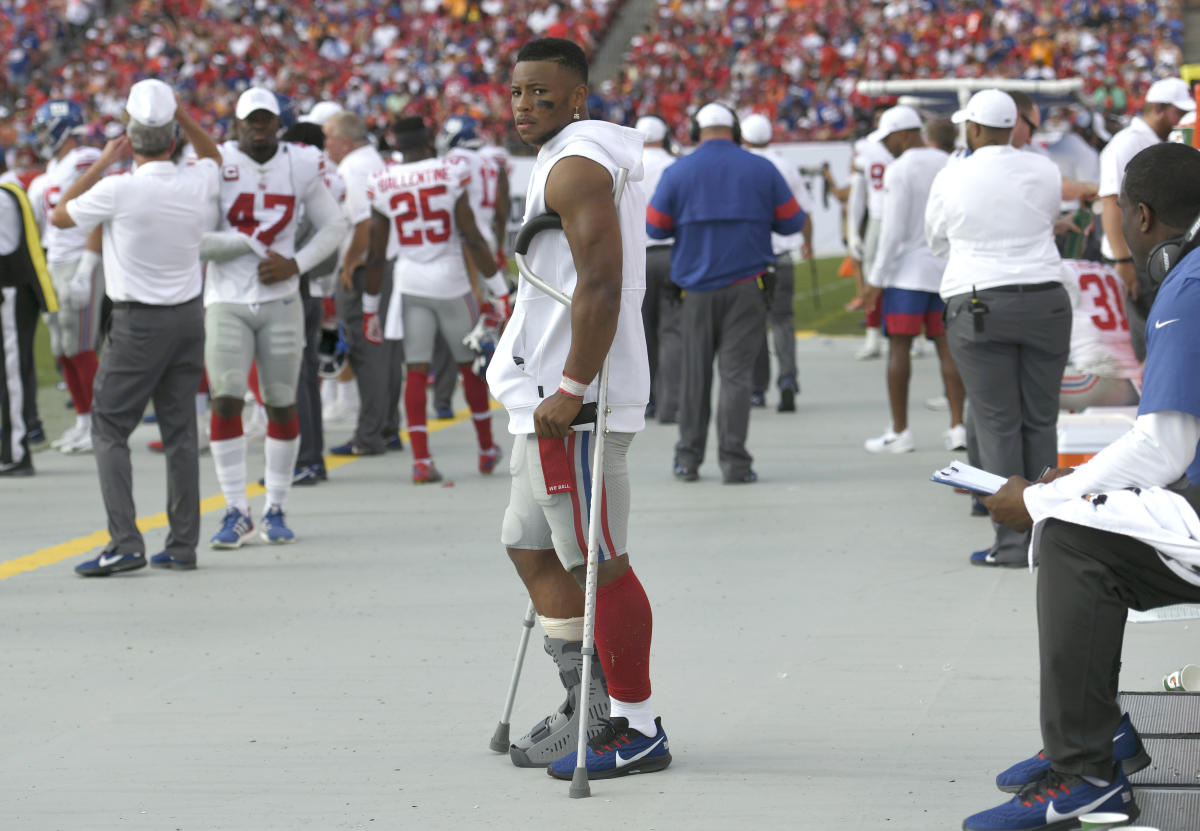
[[[947,257],[941,294],[1062,282],[1054,223],[1062,174],[1052,161],[1012,145],[979,148],[942,169],[925,209],[925,237]]]

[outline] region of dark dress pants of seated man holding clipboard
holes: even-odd
[[[1060,520],[1046,521],[1037,554],[1045,754],[1057,771],[1108,779],[1126,612],[1198,603],[1200,586],[1136,539]]]

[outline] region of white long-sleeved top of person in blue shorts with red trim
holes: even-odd
[[[949,155],[936,148],[906,150],[883,173],[880,243],[866,281],[880,288],[936,292],[946,261],[925,240],[925,203]]]

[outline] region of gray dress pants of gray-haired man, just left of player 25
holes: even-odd
[[[371,343],[362,335],[362,287],[366,270],[355,269],[354,289],[337,286],[337,316],[344,325],[349,360],[359,385],[359,422],[350,441],[367,453],[383,453],[384,444],[400,432],[400,393],[404,383],[404,342]],[[391,268],[386,267],[379,318],[386,319],[391,303]]]

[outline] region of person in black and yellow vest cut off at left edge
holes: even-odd
[[[22,364],[34,345],[25,329],[37,318],[18,312],[18,298],[29,292],[48,312],[58,309],[58,298],[25,191],[17,184],[0,190],[0,477],[34,476]]]

